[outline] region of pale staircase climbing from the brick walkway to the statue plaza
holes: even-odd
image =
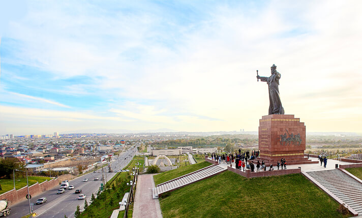
[[[165,192],[171,192],[173,190],[182,188],[185,185],[200,181],[211,176],[215,176],[226,170],[227,169],[224,169],[214,164],[200,170],[196,170],[189,174],[177,177],[175,179],[171,179],[167,182],[158,184],[155,188],[152,189],[153,198],[157,199]]]

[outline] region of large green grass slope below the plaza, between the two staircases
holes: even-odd
[[[301,174],[250,178],[226,171],[160,199],[167,217],[343,217]],[[348,216],[346,216],[348,217]]]

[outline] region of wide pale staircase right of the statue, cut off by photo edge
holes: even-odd
[[[339,169],[307,174],[358,214],[362,213],[362,183]]]

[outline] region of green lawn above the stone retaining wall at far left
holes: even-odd
[[[37,182],[42,183],[46,179],[51,180],[50,177],[43,177],[43,176],[28,176],[29,186],[35,184]],[[2,190],[0,194],[6,193],[12,189],[14,189],[14,180],[13,179],[0,179]],[[19,190],[26,186],[26,176],[24,178],[17,178],[15,177],[15,188]]]

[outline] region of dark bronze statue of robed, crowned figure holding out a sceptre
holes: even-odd
[[[272,76],[263,77],[257,75],[258,78],[263,82],[266,82],[269,87],[269,114],[284,114],[284,108],[282,102],[280,101],[279,95],[279,79],[280,73],[277,71],[277,66],[273,65],[270,67],[272,70]],[[258,72],[258,71],[257,71]]]

